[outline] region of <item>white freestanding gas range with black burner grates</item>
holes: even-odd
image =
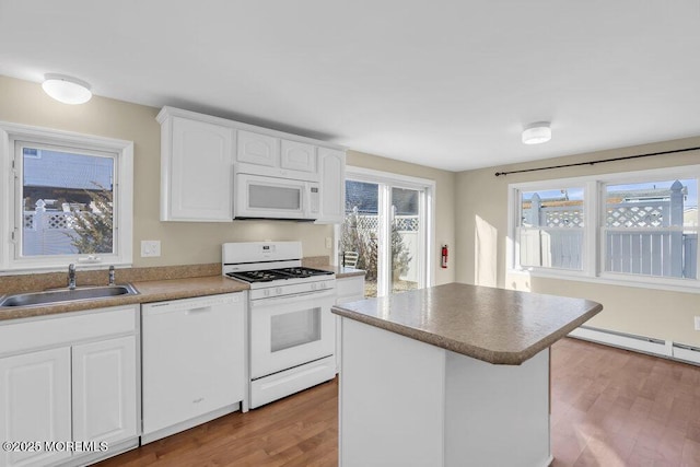
[[[250,284],[250,408],[335,377],[336,277],[302,267],[301,242],[225,243],[222,273]]]

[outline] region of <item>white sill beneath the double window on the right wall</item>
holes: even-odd
[[[587,276],[580,271],[567,270],[526,270],[512,269],[506,270],[506,275],[524,276],[544,279],[559,279],[576,282],[590,282],[605,285],[633,287],[640,289],[667,290],[672,292],[700,293],[700,281],[691,279],[668,279],[668,278],[640,278],[625,275],[604,273],[602,276]]]

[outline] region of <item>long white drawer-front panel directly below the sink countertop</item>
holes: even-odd
[[[136,332],[136,306],[101,308],[88,313],[42,316],[0,324],[0,355],[31,349],[71,345],[102,336]]]

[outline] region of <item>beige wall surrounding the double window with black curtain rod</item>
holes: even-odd
[[[500,171],[588,162],[690,147],[700,147],[700,138],[457,174],[457,281],[591,299],[604,305],[604,311],[588,322],[591,326],[700,346],[700,331],[693,330],[693,316],[700,315],[698,293],[532,278],[509,275],[505,269],[509,184],[699,164],[700,151],[513,174],[505,177],[494,176],[494,173]]]

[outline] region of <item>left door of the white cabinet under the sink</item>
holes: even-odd
[[[70,348],[0,359],[0,440],[71,441]],[[45,466],[70,451],[0,452],[0,466]]]

